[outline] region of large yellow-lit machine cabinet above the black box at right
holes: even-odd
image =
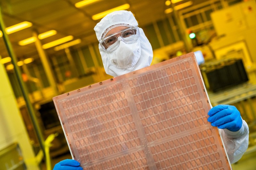
[[[211,18],[217,39],[209,46],[215,58],[241,58],[249,81],[256,83],[256,2],[241,2],[214,11]]]

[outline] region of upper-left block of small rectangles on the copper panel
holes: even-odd
[[[121,83],[62,101],[81,162],[141,145]]]

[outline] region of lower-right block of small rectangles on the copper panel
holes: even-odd
[[[150,147],[157,169],[224,169],[211,129]]]

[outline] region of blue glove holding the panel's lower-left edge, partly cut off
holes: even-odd
[[[83,170],[80,163],[73,159],[65,159],[57,163],[53,170]]]

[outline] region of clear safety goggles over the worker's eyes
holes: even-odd
[[[132,44],[133,42],[138,40],[139,36],[139,27],[130,27],[114,34],[108,35],[100,41],[100,45],[106,51],[113,51],[119,46],[120,41],[124,41],[127,44]]]

